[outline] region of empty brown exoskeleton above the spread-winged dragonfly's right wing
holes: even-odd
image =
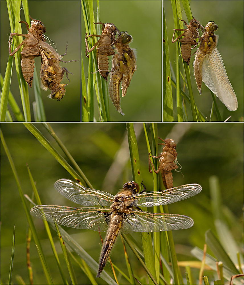
[[[160,137],[158,137],[159,139],[161,139]],[[166,189],[168,188],[172,188],[173,187],[173,176],[171,173],[171,170],[173,169],[178,169],[179,167],[176,165],[175,160],[177,160],[177,152],[176,152],[176,143],[174,140],[172,139],[161,139],[161,141],[163,141],[164,143],[160,143],[165,145],[163,147],[163,151],[161,152],[161,154],[159,154],[159,156],[150,156],[149,152],[149,172],[151,173],[152,170],[150,169],[150,164],[153,168],[153,171],[155,173],[159,173],[159,171],[161,170],[161,175],[162,175],[162,179],[163,179],[163,185],[165,186]],[[150,157],[154,157],[154,158],[159,158],[159,168],[157,170],[155,170]]]

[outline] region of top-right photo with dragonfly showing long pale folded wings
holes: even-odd
[[[163,1],[163,121],[243,121],[243,8]]]

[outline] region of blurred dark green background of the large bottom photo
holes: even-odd
[[[34,124],[43,135],[58,149],[60,148],[46,129]],[[94,189],[116,194],[122,185],[132,180],[129,159],[126,125],[124,123],[52,123],[52,128],[75,158]],[[149,125],[147,125],[149,129]],[[54,182],[60,178],[73,178],[61,167],[53,156],[33,137],[21,123],[2,123],[1,129],[13,157],[25,194],[32,196],[32,188],[28,178],[26,162],[30,167],[36,187],[43,204],[77,206],[65,199],[54,189]],[[152,174],[148,171],[148,151],[142,123],[135,123],[140,165],[143,183],[147,191],[153,190]],[[212,229],[216,233],[212,200],[210,197],[209,178],[215,175],[219,179],[223,219],[229,232],[233,235],[238,250],[243,251],[243,124],[242,123],[159,123],[158,135],[169,137],[177,143],[178,162],[182,165],[181,172],[173,172],[174,186],[198,183],[202,192],[190,199],[169,205],[170,213],[188,215],[194,219],[190,229],[173,231],[178,260],[195,260],[190,249],[198,246],[203,249],[204,233]],[[161,141],[159,141],[160,143]],[[162,146],[159,145],[159,152]],[[63,155],[63,154],[62,154]],[[140,182],[140,181],[139,181]],[[32,207],[30,205],[30,207]],[[148,209],[151,210],[150,208]],[[61,284],[57,266],[50,251],[50,245],[44,232],[41,220],[34,218],[42,246],[50,266],[51,276],[55,284]],[[13,241],[13,225],[15,225],[15,257],[13,266],[13,284],[16,275],[22,276],[28,284],[26,268],[26,230],[27,221],[19,198],[19,193],[6,154],[1,147],[1,280],[6,284],[9,276],[9,264]],[[72,237],[96,261],[99,260],[101,241],[99,233],[90,230],[65,228]],[[61,253],[56,233],[52,231],[62,267],[69,278]],[[104,237],[105,233],[102,233]],[[141,243],[139,233],[132,236]],[[224,237],[222,237],[224,238]],[[230,245],[229,245],[230,246]],[[128,254],[133,270],[138,276],[145,271],[138,263],[130,249]],[[207,251],[212,254],[211,251]],[[228,248],[227,248],[228,252]],[[120,237],[111,255],[112,261],[127,272],[124,251]],[[33,267],[34,283],[45,284],[40,261],[31,242],[30,258]],[[78,284],[89,284],[83,272],[74,265]],[[107,264],[106,272],[110,274]],[[184,274],[183,268],[182,273]],[[198,278],[199,269],[193,268],[192,273]],[[127,274],[127,273],[126,273]],[[204,271],[210,280],[217,280],[215,272]],[[120,278],[120,277],[119,277]],[[96,278],[99,284],[104,284]],[[121,284],[127,281],[119,279]],[[144,283],[145,284],[145,283]],[[185,282],[186,284],[186,282]],[[193,283],[197,284],[197,283]]]

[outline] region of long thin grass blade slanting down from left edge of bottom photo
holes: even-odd
[[[43,268],[43,270],[44,270],[44,273],[45,273],[47,282],[48,282],[48,284],[53,284],[52,278],[50,278],[50,275],[47,274],[47,272],[46,272],[47,264],[46,264],[46,260],[45,260],[45,257],[44,257],[43,251],[42,251],[42,247],[41,247],[41,244],[40,244],[38,235],[37,235],[37,233],[36,233],[36,229],[35,229],[35,227],[34,227],[34,223],[33,223],[32,218],[31,218],[31,216],[30,216],[30,212],[29,212],[28,206],[27,206],[27,204],[26,204],[26,200],[25,200],[25,198],[24,198],[24,194],[23,194],[22,188],[21,188],[21,186],[20,186],[19,177],[18,177],[16,168],[15,168],[15,165],[14,165],[13,159],[12,159],[12,157],[11,157],[11,154],[10,154],[10,152],[9,152],[9,149],[8,149],[8,147],[7,147],[7,144],[5,143],[5,140],[4,140],[2,131],[1,131],[1,142],[2,142],[2,144],[3,144],[3,148],[4,148],[5,152],[6,152],[7,157],[8,157],[8,160],[9,160],[9,163],[10,163],[10,166],[11,166],[11,169],[12,169],[12,171],[13,171],[13,175],[14,175],[14,178],[15,178],[15,181],[16,181],[16,184],[17,184],[17,188],[18,188],[18,190],[19,190],[20,199],[21,199],[22,205],[23,205],[23,207],[24,207],[24,212],[25,212],[25,215],[26,215],[26,218],[27,218],[29,227],[30,227],[30,229],[31,229],[31,233],[32,233],[34,242],[35,242],[35,244],[37,245],[37,247],[39,248],[40,254],[41,254],[41,256],[42,256],[42,259],[41,259],[42,268]]]

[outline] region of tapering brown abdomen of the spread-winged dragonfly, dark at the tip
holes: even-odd
[[[119,231],[122,226],[122,214],[120,213],[112,213],[112,218],[110,221],[110,226],[106,235],[106,238],[102,245],[102,252],[100,256],[99,266],[98,266],[98,272],[97,277],[100,277],[100,274],[106,265],[109,253],[114,245],[115,239],[119,234]]]

